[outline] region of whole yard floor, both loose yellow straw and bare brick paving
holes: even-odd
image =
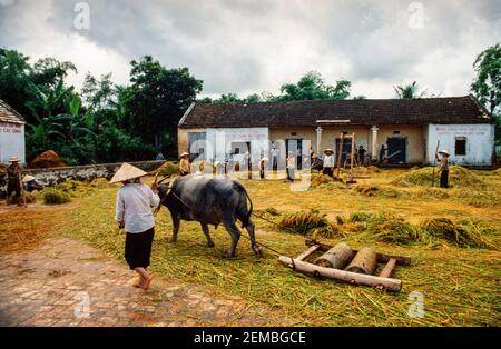
[[[240,181],[248,190],[255,210],[263,212],[274,208],[278,211],[279,216],[271,217],[272,220],[310,209],[325,215],[331,221],[335,221],[337,216],[348,217],[356,212],[397,215],[415,225],[430,218],[449,218],[453,221],[471,219],[479,225],[489,226],[492,231],[489,238],[499,246],[501,209],[499,201],[497,203],[492,200],[492,197],[495,198],[501,190],[499,174],[488,171],[477,172],[488,185],[487,188],[442,190],[392,186],[391,181],[402,173],[405,173],[404,170],[384,170],[365,173],[364,178],[357,179],[355,186],[377,187],[376,192],[371,196],[355,190],[355,186],[327,185],[306,191],[292,191],[289,183],[283,180]],[[151,270],[156,276],[154,290],[151,293],[141,293],[127,283],[131,275],[124,262],[125,237],[114,222],[116,190],[117,187],[104,186],[86,195],[75,196],[71,203],[57,207],[36,203],[24,210],[0,206],[2,226],[0,253],[9,266],[0,273],[0,283],[4,286],[0,289],[1,323],[11,326],[501,325],[499,248],[463,248],[448,242],[432,246],[396,245],[379,241],[367,233],[324,239],[331,245],[344,241],[354,248],[370,246],[382,252],[411,257],[412,265],[399,267],[393,276],[403,281],[403,290],[399,293],[384,293],[371,288],[302,276],[282,267],[273,252],[265,250],[264,258],[255,257],[245,239],[239,242],[236,258],[223,258],[224,251],[229,247],[229,237],[222,228],[217,231],[210,230],[216,242],[214,249],[206,247],[199,226],[193,222],[183,222],[179,241],[168,243],[171,222],[166,209],[156,217],[151,260]],[[255,223],[257,240],[283,251],[284,255],[297,256],[306,249],[303,236],[279,231],[276,226],[258,219],[255,219]],[[55,252],[58,246],[62,246],[63,249]],[[87,255],[99,257],[88,259]],[[80,269],[87,268],[85,266],[89,262],[97,265],[89,265],[89,269]],[[101,269],[114,272],[108,273]],[[79,278],[82,273],[88,277]],[[50,293],[50,290],[53,290],[51,283],[65,295]],[[170,290],[168,285],[187,289],[183,291],[186,293],[199,295],[196,297],[202,300],[186,303],[183,300],[189,297],[181,292],[176,298],[173,296],[176,292]],[[90,309],[92,302],[96,302],[98,308],[94,319],[75,321],[73,317],[66,317],[72,313],[70,310],[78,300],[69,299],[72,302],[56,305],[58,298],[72,297],[69,290],[80,292],[89,289]],[[130,298],[131,302],[124,302],[120,297],[116,300],[122,290],[126,295],[122,298]],[[424,312],[412,316],[411,309],[415,307],[416,295],[422,301]],[[163,300],[155,301],[155,298]],[[232,307],[218,303],[227,299],[233,300]],[[120,322],[122,320],[117,319],[124,318],[121,313],[112,311],[107,313],[106,307],[101,307],[102,309],[98,307],[104,303],[108,308],[118,309],[120,306],[110,306],[117,302],[121,306],[130,303],[143,307],[139,320],[135,320],[136,318],[131,316],[130,319],[126,317],[128,320]],[[4,306],[7,303],[8,307]],[[209,305],[208,308],[212,310],[204,310],[204,305]],[[60,307],[63,307],[63,310]],[[52,312],[59,316],[52,316]],[[125,312],[130,313],[128,310]],[[22,320],[12,318],[14,313],[26,315]],[[155,316],[151,317],[151,313]]]

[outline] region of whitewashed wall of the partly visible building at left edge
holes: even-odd
[[[14,156],[26,163],[24,124],[0,122],[0,162]]]

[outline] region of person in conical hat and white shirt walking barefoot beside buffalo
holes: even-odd
[[[124,163],[115,173],[111,183],[121,182],[117,192],[115,219],[118,227],[125,228],[125,259],[130,270],[139,275],[134,287],[148,290],[153,277],[147,271],[151,256],[151,243],[155,236],[155,220],[151,208],[160,203],[157,195],[158,185],[151,188],[143,185],[139,178],[147,173],[129,163]]]

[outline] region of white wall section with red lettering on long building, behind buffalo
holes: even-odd
[[[232,142],[250,142],[252,161],[259,159],[261,152],[268,150],[268,128],[217,128],[207,129],[207,154],[216,161],[224,161],[230,152]]]

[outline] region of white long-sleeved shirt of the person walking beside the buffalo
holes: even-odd
[[[117,192],[115,219],[125,221],[127,232],[143,232],[155,226],[151,207],[160,203],[158,195],[143,183],[129,183]]]

